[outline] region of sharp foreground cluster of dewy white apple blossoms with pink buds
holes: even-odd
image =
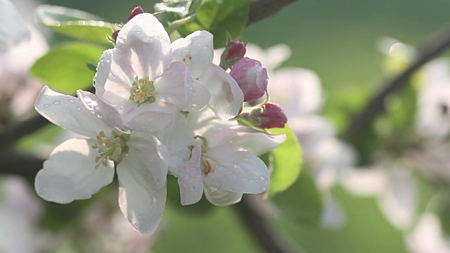
[[[171,42],[153,15],[141,8],[131,14],[115,32],[115,48],[101,56],[95,93],[79,90],[75,98],[44,87],[39,94],[35,108],[41,115],[85,138],[53,150],[37,174],[38,195],[58,203],[87,199],[116,172],[122,213],[150,234],[162,219],[167,174],[178,179],[182,205],[198,202],[203,193],[214,205],[232,205],[243,193],[267,190],[269,169],[258,155],[285,136],[236,120],[246,94],[256,99],[266,93],[265,69],[250,60],[229,74],[212,63],[210,32]],[[272,127],[272,119],[277,126],[279,117],[287,120],[281,109],[266,112],[276,105],[257,107],[262,128]]]

